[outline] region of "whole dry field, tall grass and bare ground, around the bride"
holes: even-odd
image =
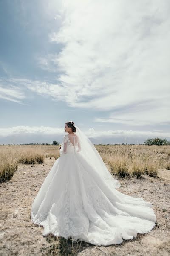
[[[59,157],[58,146],[0,146],[0,256],[170,255],[170,146],[96,145],[120,192],[153,204],[156,227],[119,245],[42,236],[30,219],[31,204]]]

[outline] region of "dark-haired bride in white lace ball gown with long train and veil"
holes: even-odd
[[[124,195],[86,135],[65,123],[60,157],[31,207],[31,220],[49,233],[95,245],[120,244],[150,232],[156,215],[150,202]]]

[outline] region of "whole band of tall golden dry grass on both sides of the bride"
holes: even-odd
[[[95,145],[105,164],[119,177],[142,174],[157,177],[158,169],[170,170],[170,146]],[[53,145],[0,146],[0,182],[10,179],[18,163],[44,163],[45,157],[57,159],[59,147]]]

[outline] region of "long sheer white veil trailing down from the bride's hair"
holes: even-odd
[[[96,169],[96,172],[108,183],[108,186],[111,188],[119,188],[121,184],[118,180],[113,178],[111,173],[108,171],[105,163],[102,160],[99,152],[96,150],[93,143],[88,139],[88,137],[80,130],[79,127],[76,127],[77,136],[79,137],[81,145],[81,154],[88,160],[88,163]]]

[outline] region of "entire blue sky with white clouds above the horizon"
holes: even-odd
[[[0,0],[0,144],[170,140],[169,0]]]

